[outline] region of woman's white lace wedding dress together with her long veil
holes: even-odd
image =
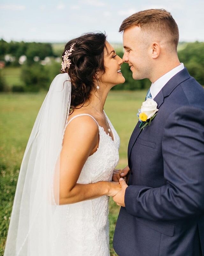
[[[59,74],[50,85],[25,149],[4,256],[110,255],[108,196],[59,205],[60,153],[71,121],[70,105],[70,77]],[[120,139],[107,120],[114,140],[98,125],[98,149],[88,157],[78,183],[112,179]]]

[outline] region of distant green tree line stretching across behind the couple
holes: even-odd
[[[38,56],[40,60],[47,56],[55,56],[51,44],[12,41],[7,43],[2,39],[0,41],[0,60],[5,53],[12,54],[16,58],[22,56],[22,54],[27,57],[26,62],[21,65],[22,86],[13,86],[12,91],[38,92],[48,90],[53,78],[61,72],[61,60],[56,62],[53,59],[42,65],[40,61],[34,61],[33,59],[35,56]],[[122,58],[123,52],[117,53]],[[201,85],[204,85],[204,43],[188,43],[183,50],[178,52],[178,55],[180,62],[184,63],[190,75],[195,77]],[[151,82],[148,79],[134,80],[132,78],[132,72],[128,64],[124,63],[121,66],[121,71],[126,81],[124,84],[113,87],[113,90],[141,90],[150,87]],[[5,88],[5,80],[2,72],[0,72],[0,91],[6,91]]]

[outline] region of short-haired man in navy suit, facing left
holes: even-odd
[[[123,61],[135,80],[152,82],[147,98],[158,111],[129,141],[130,179],[113,197],[122,206],[113,247],[120,256],[204,255],[204,89],[179,62],[169,12],[137,12],[119,31]]]

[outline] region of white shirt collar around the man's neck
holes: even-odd
[[[157,79],[157,81],[151,84],[150,92],[152,95],[152,99],[154,99],[157,96],[157,94],[161,91],[164,85],[171,79],[171,77],[175,76],[182,69],[184,69],[184,64],[180,63],[179,66],[171,69],[169,72],[164,74],[164,76],[161,76],[159,79]]]

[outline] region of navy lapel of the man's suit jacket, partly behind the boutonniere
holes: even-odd
[[[168,97],[171,92],[183,81],[190,78],[190,75],[186,68],[182,69],[179,73],[173,76],[162,88],[162,90],[157,94],[154,100],[157,102],[157,108],[159,109],[164,102],[164,98]],[[138,122],[135,126],[135,129],[130,137],[130,141],[128,144],[128,161],[132,152],[132,148],[140,135],[141,129],[139,128],[140,122]]]

